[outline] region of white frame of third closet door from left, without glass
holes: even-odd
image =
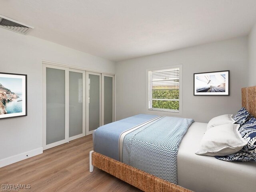
[[[92,132],[94,130],[91,130],[89,131],[89,74],[92,74],[92,75],[98,75],[99,78],[100,78],[100,126],[101,126],[101,109],[102,109],[102,104],[101,104],[101,100],[102,100],[102,89],[101,89],[101,73],[97,73],[97,72],[91,72],[91,71],[86,71],[86,135],[90,135],[92,134]]]

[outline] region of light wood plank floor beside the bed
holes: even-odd
[[[2,184],[30,184],[25,192],[140,192],[94,167],[89,172],[92,135],[45,150],[43,154],[0,168]]]

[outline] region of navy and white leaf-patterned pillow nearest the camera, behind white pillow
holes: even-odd
[[[246,124],[239,128],[239,132],[248,144],[237,153],[227,156],[215,156],[224,161],[256,161],[256,119],[251,118]]]

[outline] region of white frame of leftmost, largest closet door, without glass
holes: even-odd
[[[46,144],[46,68],[65,71],[65,139],[51,144]],[[68,143],[69,141],[69,68],[43,64],[43,150]]]

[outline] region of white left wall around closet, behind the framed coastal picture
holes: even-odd
[[[114,62],[0,28],[0,72],[28,75],[28,116],[0,119],[0,167],[42,150],[42,60],[115,72]]]

